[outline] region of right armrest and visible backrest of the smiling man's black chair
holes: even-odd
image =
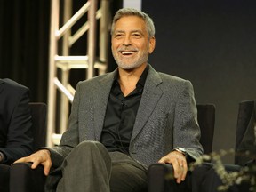
[[[201,129],[200,142],[204,154],[212,152],[215,106],[213,104],[197,104],[197,120]],[[148,192],[187,191],[186,185],[179,185],[168,175],[172,175],[171,164],[152,164],[148,167]]]

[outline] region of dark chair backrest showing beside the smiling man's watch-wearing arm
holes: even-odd
[[[197,104],[197,120],[201,130],[200,142],[204,148],[204,154],[212,153],[215,106],[214,104]]]

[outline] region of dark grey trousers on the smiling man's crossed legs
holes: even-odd
[[[147,191],[146,169],[123,153],[108,153],[97,141],[81,142],[65,158],[60,170],[57,192]]]

